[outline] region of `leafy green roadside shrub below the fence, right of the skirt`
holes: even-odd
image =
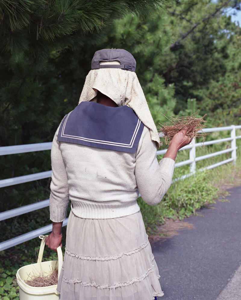
[[[183,219],[195,214],[196,209],[205,204],[215,203],[218,191],[219,188],[213,185],[210,171],[205,170],[173,183],[158,205],[148,205],[139,198],[138,204],[147,233],[154,233],[156,225],[164,223],[165,218]]]

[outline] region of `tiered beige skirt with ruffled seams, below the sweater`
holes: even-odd
[[[71,211],[60,300],[152,300],[164,293],[141,212],[113,219]]]

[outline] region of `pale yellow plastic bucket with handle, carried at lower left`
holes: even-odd
[[[18,269],[16,277],[17,284],[19,285],[19,299],[20,300],[58,300],[59,294],[57,293],[57,284],[44,286],[44,287],[35,287],[28,285],[24,280],[27,280],[29,274],[37,275],[39,272],[44,274],[49,274],[49,271],[56,267],[58,267],[58,278],[60,275],[60,270],[63,264],[63,253],[61,247],[57,248],[58,260],[49,260],[42,262],[43,250],[45,246],[45,239],[47,235],[40,235],[39,238],[42,239],[39,256],[37,263],[33,263],[31,265],[23,266]]]

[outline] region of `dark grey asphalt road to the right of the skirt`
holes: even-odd
[[[241,300],[241,186],[229,192],[230,202],[183,220],[192,229],[152,244],[164,292],[158,300]]]

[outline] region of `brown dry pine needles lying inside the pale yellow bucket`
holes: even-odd
[[[28,278],[31,278],[30,280],[27,280]],[[44,287],[49,285],[55,285],[58,283],[58,268],[50,269],[50,274],[46,275],[46,273],[43,273],[42,271],[39,272],[38,275],[30,275],[28,274],[28,278],[25,280],[25,282],[28,285],[36,286],[36,287]]]

